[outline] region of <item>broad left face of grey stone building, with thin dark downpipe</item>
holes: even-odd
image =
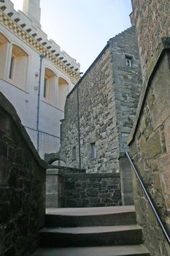
[[[87,172],[115,172],[118,170],[118,139],[115,126],[116,118],[112,114],[115,105],[113,104],[112,59],[110,56],[108,43],[66,99],[65,119],[61,125],[61,156],[65,158],[66,165],[80,167],[80,135],[81,167],[85,168]],[[77,93],[79,106],[77,106]],[[77,113],[78,108],[79,113]],[[78,121],[80,121],[80,130]],[[67,131],[69,132],[67,133]],[[92,143],[96,143],[97,157],[93,157],[91,154]],[[76,148],[75,157],[73,156],[74,147]]]

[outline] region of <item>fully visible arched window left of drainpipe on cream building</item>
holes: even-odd
[[[18,45],[12,45],[12,55],[9,65],[9,79],[15,86],[18,86],[20,89],[25,89],[28,54]]]

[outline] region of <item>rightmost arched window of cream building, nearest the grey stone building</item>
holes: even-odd
[[[58,108],[64,110],[66,95],[69,93],[69,84],[63,78],[58,78]]]

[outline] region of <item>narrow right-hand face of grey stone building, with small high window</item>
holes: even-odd
[[[142,74],[139,61],[136,31],[126,29],[110,40],[112,50],[113,93],[116,117],[115,125],[119,136],[119,151],[128,151],[126,144],[134,123],[136,108],[142,89]],[[125,65],[131,58],[131,67]],[[112,138],[110,139],[112,140]]]

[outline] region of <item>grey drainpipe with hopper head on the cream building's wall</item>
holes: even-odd
[[[37,151],[39,152],[39,103],[40,103],[40,86],[42,79],[42,59],[46,57],[46,55],[41,54],[40,57],[40,65],[39,65],[39,90],[38,90],[38,103],[37,103],[37,116],[36,116],[36,131],[37,131]]]

